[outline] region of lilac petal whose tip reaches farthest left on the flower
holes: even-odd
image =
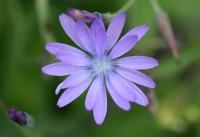
[[[78,67],[73,67],[62,62],[50,64],[42,68],[43,73],[52,76],[67,76],[77,70]]]

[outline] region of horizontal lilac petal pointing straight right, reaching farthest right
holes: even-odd
[[[159,65],[158,61],[146,56],[130,56],[118,59],[116,65],[128,69],[152,69]]]

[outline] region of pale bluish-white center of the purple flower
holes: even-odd
[[[95,74],[106,73],[112,68],[112,62],[107,57],[95,58],[92,69]]]

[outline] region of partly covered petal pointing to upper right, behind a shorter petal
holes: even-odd
[[[144,34],[148,31],[149,27],[148,25],[141,25],[141,26],[137,26],[135,28],[133,28],[132,30],[130,30],[128,33],[126,33],[123,37],[128,37],[128,36],[133,36],[136,35],[138,37],[138,41],[144,36]]]

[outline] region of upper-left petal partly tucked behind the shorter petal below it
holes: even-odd
[[[87,56],[83,51],[74,48],[72,46],[66,45],[64,43],[57,42],[49,42],[45,45],[47,51],[49,51],[53,55],[57,55],[59,53],[77,55],[77,56]]]

